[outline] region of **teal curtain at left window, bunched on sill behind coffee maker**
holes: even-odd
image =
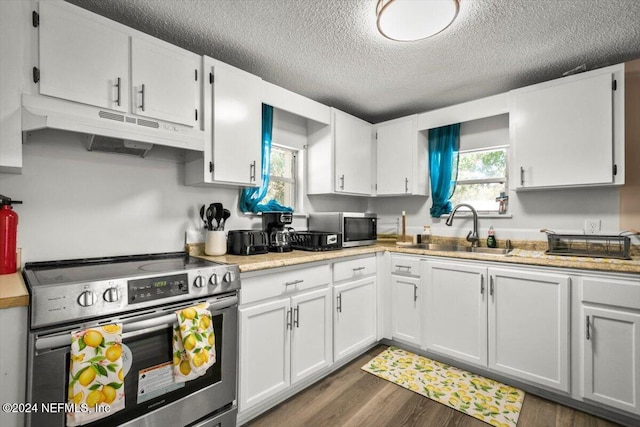
[[[271,174],[271,140],[273,133],[273,107],[262,104],[262,184],[260,187],[244,188],[240,194],[242,212],[285,211],[292,212],[288,206],[282,206],[275,200],[260,203],[267,195],[269,175]]]

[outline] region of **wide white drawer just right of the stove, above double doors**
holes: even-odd
[[[331,282],[329,265],[267,273],[242,279],[240,304],[248,304],[280,295],[289,295]]]

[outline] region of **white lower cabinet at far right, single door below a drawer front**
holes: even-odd
[[[582,397],[640,414],[640,280],[585,278],[581,317]]]

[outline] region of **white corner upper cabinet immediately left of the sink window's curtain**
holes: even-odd
[[[378,196],[428,194],[427,138],[416,114],[375,125]]]

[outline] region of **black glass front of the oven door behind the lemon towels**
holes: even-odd
[[[206,374],[185,383],[158,384],[147,375],[158,377],[173,369],[172,330],[171,328],[151,332],[126,339],[131,353],[131,369],[124,379],[125,409],[112,416],[87,424],[90,426],[113,426],[137,418],[158,407],[167,405],[203,387],[216,384],[222,379],[222,314],[213,317],[215,334],[216,363]],[[139,381],[146,381],[140,386]],[[149,386],[145,389],[145,384]],[[66,390],[66,388],[65,388]]]

